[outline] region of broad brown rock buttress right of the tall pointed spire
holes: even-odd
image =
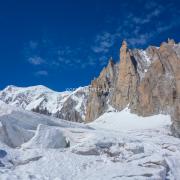
[[[173,46],[163,43],[159,49],[152,50],[153,62],[138,85],[138,98],[132,108],[140,115],[172,113],[178,92],[176,76],[180,63]]]

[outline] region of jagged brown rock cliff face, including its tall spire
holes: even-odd
[[[120,63],[109,65],[91,86],[101,91],[90,93],[86,120],[91,121],[110,105],[117,110],[129,106],[132,112],[149,116],[170,114],[173,130],[180,136],[180,44],[173,40],[162,43],[160,48],[130,50],[123,41]],[[106,78],[113,69],[111,78]],[[104,94],[103,88],[112,91]]]

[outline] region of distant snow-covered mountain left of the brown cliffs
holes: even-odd
[[[88,95],[85,88],[56,92],[42,85],[26,88],[8,86],[0,91],[0,100],[25,110],[82,122]]]

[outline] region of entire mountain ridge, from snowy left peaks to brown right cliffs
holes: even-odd
[[[0,100],[26,110],[78,122],[91,122],[109,107],[121,111],[128,106],[131,112],[140,116],[170,114],[172,130],[180,136],[179,69],[180,43],[168,39],[160,47],[149,46],[143,50],[129,49],[123,41],[120,62],[115,63],[110,58],[99,77],[87,87],[56,92],[39,85],[20,88],[17,92],[18,88],[8,86],[0,91]]]

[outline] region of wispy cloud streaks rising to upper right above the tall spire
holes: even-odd
[[[105,55],[114,47],[118,39],[126,39],[132,47],[144,46],[148,44],[152,38],[157,37],[159,34],[179,24],[179,15],[177,11],[173,11],[175,7],[172,3],[167,3],[162,6],[162,4],[159,4],[157,1],[148,1],[144,8],[146,9],[146,14],[142,11],[140,13],[130,12],[129,15],[126,15],[119,25],[117,24],[114,33],[110,33],[110,31],[107,30],[106,33],[102,32],[98,34],[92,50],[95,53]],[[156,19],[161,18],[167,11],[171,12],[171,20],[167,19],[166,21],[160,21],[161,23],[154,23]],[[113,22],[113,25],[114,24]]]

